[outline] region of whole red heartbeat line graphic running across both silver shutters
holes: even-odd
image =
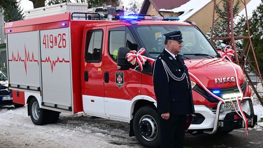
[[[12,59],[8,59],[8,61],[16,61],[16,62],[24,62],[24,66],[25,66],[25,72],[27,75],[27,62],[37,62],[39,65],[39,62],[37,59],[35,59],[34,53],[32,52],[32,56],[30,58],[30,54],[29,51],[26,50],[26,46],[25,46],[25,58],[22,59],[22,57],[19,55],[19,51],[18,51],[18,56],[14,56],[14,52],[12,51]],[[51,67],[51,71],[53,73],[53,69],[54,67],[56,67],[56,63],[69,63],[69,60],[65,60],[64,58],[62,58],[62,60],[59,59],[59,57],[57,56],[56,60],[51,60],[50,57],[46,57],[45,60],[41,59],[41,62],[50,62],[50,67]]]

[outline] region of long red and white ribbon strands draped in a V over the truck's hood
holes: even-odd
[[[234,68],[234,66],[232,65],[231,62],[229,62],[228,60],[225,60],[225,61],[227,61],[227,62],[232,66],[232,68],[233,68],[233,70],[234,70],[234,72],[235,72],[237,87],[238,87],[239,92],[241,93],[241,97],[242,97],[241,100],[243,100],[243,92],[242,92],[241,87],[240,87],[240,85],[239,85],[238,72],[236,71],[236,69]],[[203,89],[205,89],[210,95],[212,95],[213,97],[215,97],[216,99],[220,100],[222,103],[225,104],[225,100],[224,100],[224,99],[222,99],[221,97],[216,96],[215,94],[213,94],[212,92],[210,92],[210,91],[206,88],[206,86],[205,86],[194,74],[192,74],[192,73],[190,73],[190,72],[188,72],[188,73],[189,73],[189,75],[190,75],[196,82],[198,82],[198,84],[200,84],[201,87],[202,87]],[[245,123],[245,134],[248,135],[248,122],[247,122],[247,119],[246,119],[246,117],[245,117],[245,114],[244,114],[244,112],[243,112],[243,110],[242,110],[241,102],[239,101],[238,96],[236,96],[236,100],[237,100],[238,108],[239,108],[239,111],[240,111],[241,114],[237,111],[236,107],[234,106],[234,103],[233,103],[231,97],[229,97],[229,99],[230,99],[230,101],[231,101],[231,103],[232,103],[235,111],[237,112],[237,114],[244,120],[244,123]]]

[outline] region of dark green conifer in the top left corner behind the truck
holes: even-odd
[[[0,0],[0,11],[4,12],[4,21],[16,21],[24,19],[20,1]]]

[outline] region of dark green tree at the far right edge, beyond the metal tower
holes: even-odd
[[[252,18],[249,19],[249,30],[251,35],[252,45],[258,61],[258,65],[263,73],[263,0],[256,10],[252,12]],[[245,45],[245,44],[244,44]],[[251,50],[251,49],[250,49]],[[253,60],[254,56],[249,53],[249,59]],[[255,63],[253,63],[255,67]],[[255,67],[256,68],[256,67]]]

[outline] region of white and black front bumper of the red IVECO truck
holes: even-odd
[[[245,97],[241,106],[246,114],[249,122],[249,127],[253,127],[257,122],[257,115],[254,115],[254,109],[252,105],[251,98]],[[226,101],[226,103],[228,103]],[[190,125],[188,131],[204,131],[208,134],[214,134],[217,130],[232,130],[244,128],[243,119],[237,118],[236,112],[231,110],[221,111],[222,102],[218,103],[216,110],[207,108],[204,105],[195,105],[195,114],[200,114],[196,116],[193,123]],[[248,115],[249,114],[249,115]],[[236,119],[235,119],[236,117]],[[238,116],[239,117],[239,116]],[[253,119],[253,121],[251,120]],[[199,123],[198,123],[199,122]]]

